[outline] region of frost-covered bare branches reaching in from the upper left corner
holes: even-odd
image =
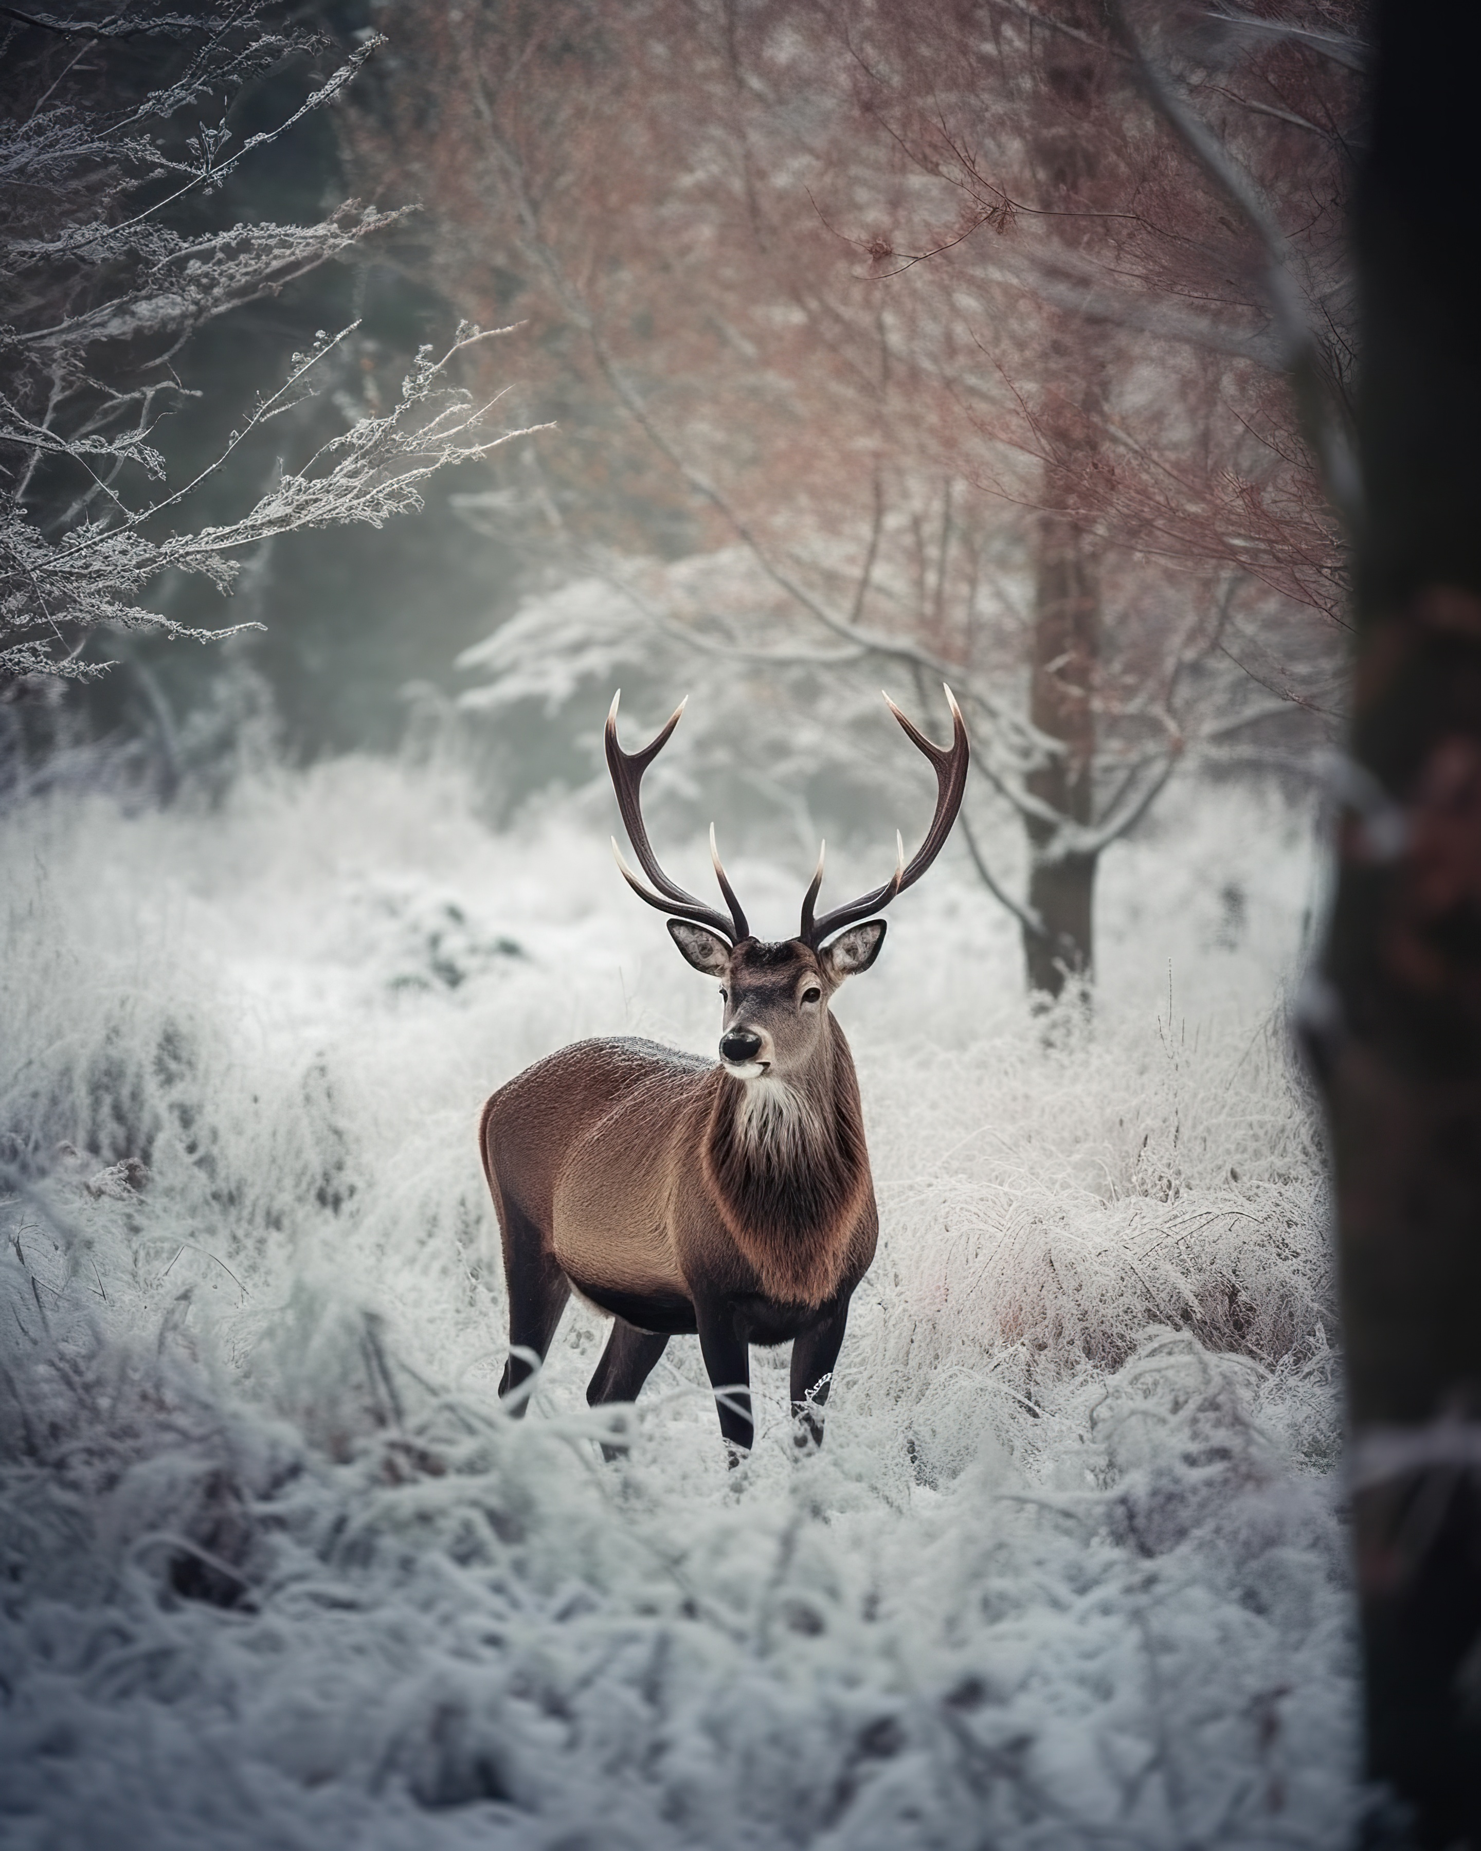
[[[17,115],[0,122],[0,679],[89,679],[106,663],[83,657],[98,627],[207,640],[141,600],[165,572],[200,574],[226,592],[241,553],[281,533],[344,522],[380,526],[420,505],[418,485],[450,463],[487,455],[516,431],[485,420],[457,385],[457,357],[487,339],[461,326],[452,346],[422,348],[385,415],[355,416],[237,518],[189,528],[185,503],[272,418],[311,396],[352,329],[320,335],[296,354],[278,391],[252,405],[215,457],[189,481],[148,494],[167,478],[159,416],[187,394],[172,359],[207,322],[278,294],[341,257],[404,211],[350,200],[317,224],[200,228],[178,211],[211,194],[254,152],[331,102],[381,43],[368,37],[274,128],[239,139],[230,117],[250,80],[291,57],[322,57],[328,41],[278,28],[263,4],[200,17],[130,11],[124,22],[20,17]],[[104,57],[74,76],[63,44],[83,37],[152,37],[191,46],[163,89],[118,107]],[[15,33],[11,33],[15,41]],[[35,50],[35,46],[41,46]],[[31,50],[30,67],[26,52]],[[9,56],[9,54],[7,54]],[[172,54],[178,56],[178,54]],[[502,329],[496,329],[502,331]]]

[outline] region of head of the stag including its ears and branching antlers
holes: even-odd
[[[937,813],[926,831],[926,840],[907,863],[905,844],[896,831],[896,863],[889,881],[816,918],[824,844],[818,851],[818,868],[802,901],[798,935],[781,944],[766,944],[752,935],[735,888],[720,864],[715,824],[709,827],[709,853],[729,916],[687,894],[659,866],[642,822],[639,790],[642,774],[668,744],[668,737],[679,724],[685,702],[679,702],[668,724],[642,752],[624,752],[616,742],[616,703],[620,698],[622,690],[618,689],[607,714],[607,768],[628,839],[653,890],[650,892],[633,874],[613,840],[622,877],[639,900],[668,914],[668,931],[683,957],[696,970],[718,979],[726,1005],[720,1031],[720,1061],[726,1070],[739,1081],[789,1081],[805,1070],[824,1046],[828,1003],[833,992],[844,977],[868,970],[879,955],[879,946],[885,942],[885,922],[870,918],[870,914],[883,911],[896,894],[913,887],[937,859],[952,833],[966,789],[970,755],[966,726],[955,696],[946,689],[946,700],[952,707],[950,746],[933,746],[889,694],[885,696],[890,713],[905,729],[905,737],[931,761],[937,774]]]

